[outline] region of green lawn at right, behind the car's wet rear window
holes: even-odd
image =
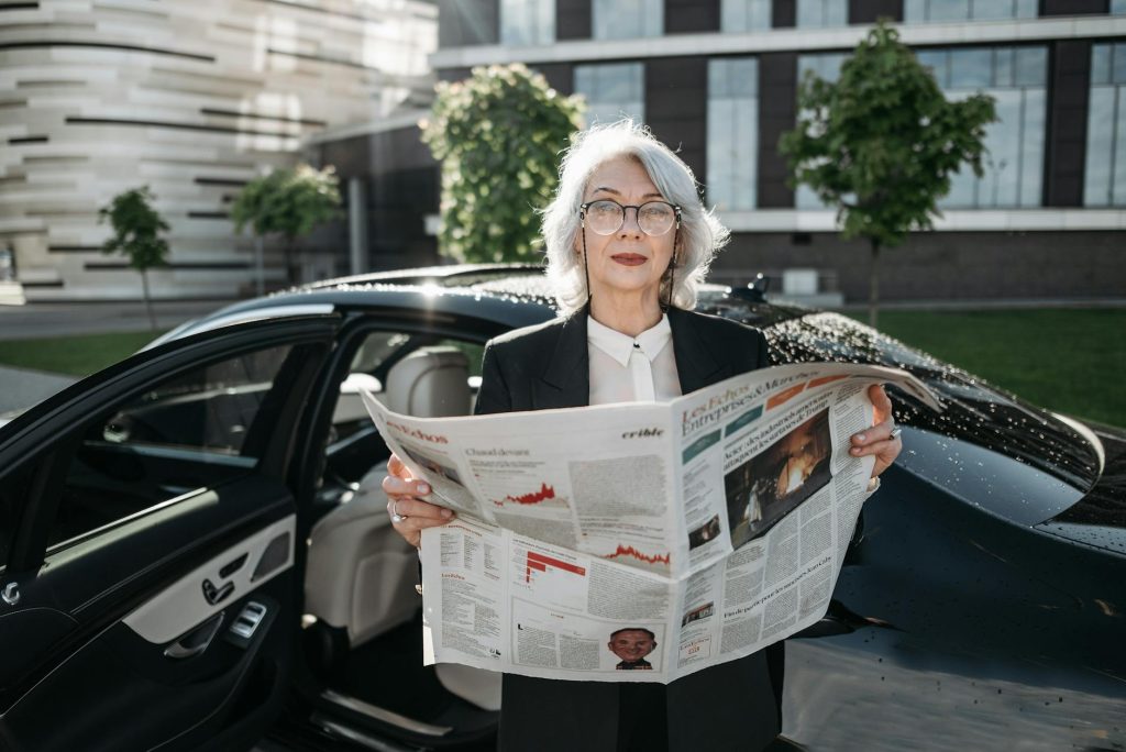
[[[1126,308],[881,311],[879,329],[1034,404],[1126,427]]]

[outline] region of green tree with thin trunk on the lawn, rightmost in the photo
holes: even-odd
[[[868,319],[876,325],[879,251],[912,230],[930,230],[937,202],[963,164],[982,176],[993,98],[947,101],[930,70],[881,20],[841,66],[835,83],[807,73],[797,127],[778,147],[790,186],[805,183],[837,208],[844,239],[872,249]]]

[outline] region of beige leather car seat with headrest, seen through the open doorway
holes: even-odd
[[[387,371],[377,395],[393,411],[420,418],[471,412],[468,360],[452,347],[420,348]],[[418,555],[391,527],[381,482],[386,463],[373,467],[346,503],[313,526],[305,574],[305,610],[343,627],[350,647],[410,621],[420,606],[414,584]],[[454,664],[437,666],[448,691],[488,710],[500,708],[500,675]],[[374,679],[374,678],[373,678]]]

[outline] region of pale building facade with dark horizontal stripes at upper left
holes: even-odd
[[[21,0],[21,5],[23,0]],[[135,298],[97,211],[149,185],[171,225],[158,298],[253,289],[226,218],[304,137],[429,100],[437,10],[414,0],[39,0],[0,11],[0,244],[29,299]],[[282,254],[268,279],[280,284]],[[101,267],[101,268],[99,268]]]

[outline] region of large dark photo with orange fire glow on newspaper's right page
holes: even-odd
[[[832,480],[829,409],[814,414],[724,476],[731,545],[769,530]]]

